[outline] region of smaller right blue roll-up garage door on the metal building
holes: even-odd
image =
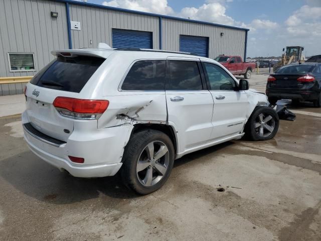
[[[198,56],[208,57],[209,56],[209,38],[181,35],[180,36],[180,51],[190,52]]]

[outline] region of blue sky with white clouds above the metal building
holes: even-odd
[[[83,1],[83,0],[79,0]],[[87,0],[148,13],[250,29],[247,56],[280,56],[286,46],[321,54],[321,0]]]

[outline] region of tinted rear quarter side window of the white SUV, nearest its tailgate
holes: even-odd
[[[166,60],[140,60],[127,73],[122,90],[164,90]]]

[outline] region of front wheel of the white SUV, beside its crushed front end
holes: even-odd
[[[259,106],[253,111],[245,127],[246,136],[252,141],[272,139],[279,128],[276,111],[267,106]]]

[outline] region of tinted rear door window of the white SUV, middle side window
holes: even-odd
[[[202,90],[202,79],[197,62],[170,60],[167,90]]]

